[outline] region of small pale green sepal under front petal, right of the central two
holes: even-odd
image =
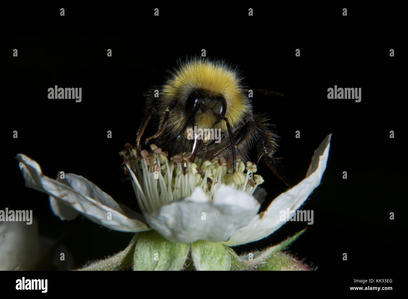
[[[196,270],[231,270],[231,255],[222,243],[195,241],[191,244],[191,256]]]

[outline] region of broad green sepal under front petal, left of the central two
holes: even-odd
[[[133,270],[182,270],[190,244],[172,243],[155,230],[137,233]]]

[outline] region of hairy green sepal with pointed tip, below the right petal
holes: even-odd
[[[282,243],[269,247],[263,251],[248,252],[248,254],[238,256],[232,248],[227,248],[232,256],[231,270],[296,270],[302,268],[307,270],[303,263],[295,257],[281,252],[295,241],[304,230],[289,237]],[[226,246],[227,247],[227,246]],[[293,267],[290,268],[290,265]],[[301,265],[303,267],[301,267]]]

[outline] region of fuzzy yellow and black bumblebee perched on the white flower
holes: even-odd
[[[271,130],[268,119],[254,114],[251,100],[242,84],[237,69],[221,60],[192,58],[179,62],[161,88],[157,97],[154,90],[147,95],[144,118],[137,131],[136,147],[149,121],[156,117],[158,126],[151,140],[171,155],[191,152],[195,157],[215,161],[225,157],[235,172],[237,157],[248,160],[248,152],[255,147],[257,159],[263,157],[276,177],[286,185],[281,174],[280,158],[275,157],[278,135]],[[207,134],[200,137],[192,132]],[[211,130],[214,129],[214,130]],[[215,140],[215,130],[220,139]]]

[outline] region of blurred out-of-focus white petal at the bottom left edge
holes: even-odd
[[[33,270],[40,258],[38,222],[0,222],[0,270]]]

